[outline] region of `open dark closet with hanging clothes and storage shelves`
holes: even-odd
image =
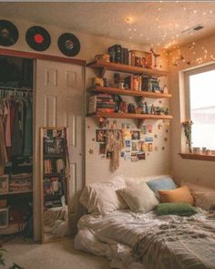
[[[0,57],[0,234],[33,236],[33,60]]]

